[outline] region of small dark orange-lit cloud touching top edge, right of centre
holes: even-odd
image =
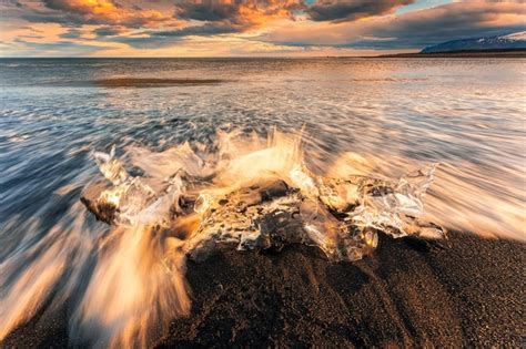
[[[353,21],[391,13],[396,8],[413,2],[415,0],[321,0],[308,7],[306,12],[313,21]]]

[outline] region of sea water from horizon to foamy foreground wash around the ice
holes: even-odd
[[[313,173],[396,179],[439,163],[424,218],[524,240],[525,63],[0,61],[0,340],[44,304],[48,311],[74,305],[77,345],[148,343],[151,324],[162,331],[188,314],[184,256],[169,253],[176,240],[136,225],[112,228],[79,202],[103,178],[93,152],[112,145],[129,158],[130,175],[164,178],[174,157],[160,154],[184,153],[188,142],[192,152],[212,154],[186,168],[204,176],[218,152],[235,158],[262,146],[216,147],[220,130],[264,140],[274,126],[284,134],[304,127],[302,161]],[[123,78],[172,82],[98,83]]]

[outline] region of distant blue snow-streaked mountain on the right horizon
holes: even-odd
[[[421,53],[438,53],[453,51],[485,51],[485,50],[526,50],[526,31],[508,35],[462,39],[427,47]]]

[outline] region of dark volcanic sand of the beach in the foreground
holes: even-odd
[[[383,237],[372,256],[341,264],[304,246],[189,261],[192,314],[158,346],[524,346],[526,245],[461,234],[448,244]],[[0,347],[65,346],[65,308]]]

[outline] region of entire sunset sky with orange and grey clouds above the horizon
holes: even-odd
[[[0,57],[416,52],[526,29],[526,0],[0,0]]]

